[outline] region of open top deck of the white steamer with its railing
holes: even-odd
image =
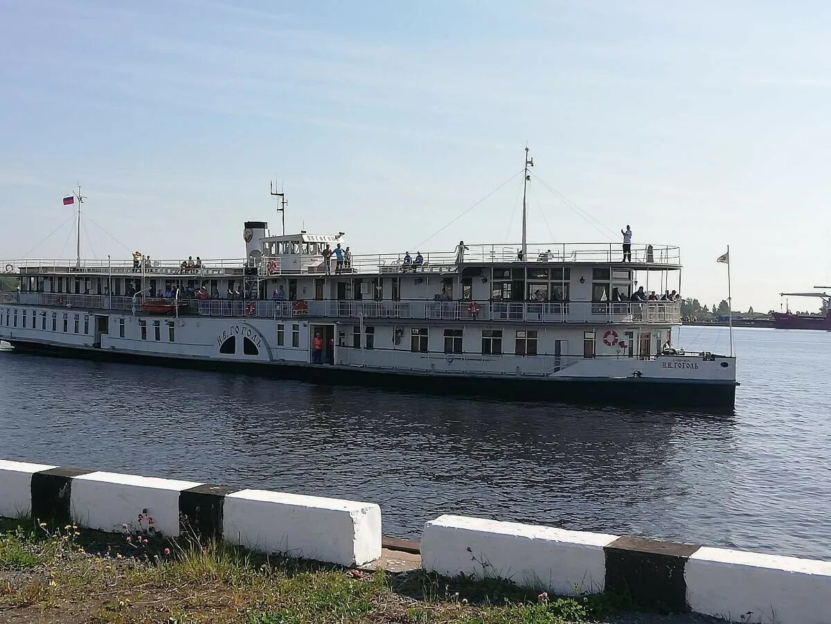
[[[32,275],[142,275],[201,276],[221,278],[242,276],[252,270],[261,278],[292,275],[324,275],[327,273],[321,248],[300,246],[289,255],[263,254],[257,258],[215,258],[204,259],[199,267],[182,266],[181,260],[150,259],[135,267],[132,259],[115,260],[57,260],[21,259],[6,260],[5,273],[22,276]],[[462,258],[455,251],[423,253],[424,262],[419,266],[405,267],[406,252],[353,254],[342,273],[356,275],[384,275],[401,273],[406,268],[418,273],[459,273],[460,266],[529,265],[547,263],[550,266],[609,265],[630,268],[637,271],[671,271],[681,268],[681,249],[674,245],[632,245],[632,259],[622,262],[622,248],[619,243],[543,243],[528,246],[528,257],[520,258],[519,244],[470,244]],[[304,253],[305,252],[305,253]],[[411,258],[416,258],[416,251]],[[290,258],[290,259],[289,259]],[[460,262],[459,262],[460,261]],[[335,259],[331,259],[334,273]],[[248,271],[246,271],[248,269]]]

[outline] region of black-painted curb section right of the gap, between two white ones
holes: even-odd
[[[689,611],[684,567],[699,546],[617,538],[603,548],[607,591],[626,593],[642,607]]]

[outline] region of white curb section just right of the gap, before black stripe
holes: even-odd
[[[448,577],[509,579],[563,595],[602,592],[606,533],[445,515],[425,524],[421,565]]]

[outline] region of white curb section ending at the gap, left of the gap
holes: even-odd
[[[381,558],[381,508],[243,489],[225,497],[223,538],[263,553],[361,565]]]

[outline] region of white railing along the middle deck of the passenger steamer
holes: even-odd
[[[158,299],[155,299],[158,300]],[[170,302],[170,300],[165,300]],[[681,322],[681,302],[499,302],[409,300],[187,299],[180,312],[206,317],[401,319],[460,322],[627,323]],[[0,303],[141,312],[137,297],[0,292]],[[171,302],[172,303],[172,302]]]

